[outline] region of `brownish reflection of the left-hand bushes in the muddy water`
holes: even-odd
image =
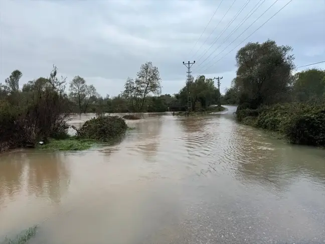
[[[10,152],[1,156],[0,199],[14,200],[14,195],[49,199],[59,203],[69,186],[69,172],[60,153],[35,153],[33,150]]]

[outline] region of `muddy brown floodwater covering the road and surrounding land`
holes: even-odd
[[[30,243],[325,243],[325,150],[228,109],[143,114],[114,146],[0,155],[0,240],[39,224]]]

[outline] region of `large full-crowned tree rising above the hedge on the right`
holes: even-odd
[[[240,103],[252,108],[263,103],[276,103],[285,97],[292,83],[294,68],[292,48],[275,41],[248,43],[236,55],[236,88]]]

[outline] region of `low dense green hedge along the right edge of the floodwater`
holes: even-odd
[[[325,105],[283,103],[258,109],[238,106],[237,119],[244,125],[268,130],[289,143],[325,146]]]

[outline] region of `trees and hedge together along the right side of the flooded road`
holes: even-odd
[[[237,118],[295,144],[325,145],[325,70],[295,72],[289,46],[248,43],[236,55],[237,73],[224,100]]]

